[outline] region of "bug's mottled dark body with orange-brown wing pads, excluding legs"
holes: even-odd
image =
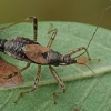
[[[16,37],[2,42],[4,42],[2,46],[2,52],[26,62],[42,65],[61,65],[62,63],[71,64],[77,62],[74,59],[71,59],[70,56],[62,56],[28,38]]]

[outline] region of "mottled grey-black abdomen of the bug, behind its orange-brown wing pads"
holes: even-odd
[[[32,62],[30,59],[28,59],[28,57],[24,54],[22,50],[22,48],[26,44],[30,44],[30,43],[39,44],[38,42],[34,42],[28,38],[23,38],[23,37],[12,38],[4,43],[4,53],[22,61]]]

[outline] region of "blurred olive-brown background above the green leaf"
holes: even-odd
[[[110,0],[0,0],[0,24],[16,22],[29,16],[39,21],[74,21],[97,26]],[[100,27],[111,29],[111,8]]]

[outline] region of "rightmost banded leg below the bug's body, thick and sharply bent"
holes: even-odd
[[[51,71],[51,73],[53,74],[54,79],[57,80],[57,82],[60,84],[60,87],[62,88],[62,91],[61,92],[53,92],[52,95],[53,95],[53,102],[56,103],[56,98],[61,94],[61,93],[64,93],[65,92],[65,85],[63,83],[63,81],[60,79],[59,74],[57,73],[57,71],[51,67],[49,65],[49,69]]]

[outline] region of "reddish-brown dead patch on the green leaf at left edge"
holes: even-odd
[[[13,72],[18,73],[18,75],[11,79],[4,79],[7,75]],[[19,69],[16,65],[8,63],[0,58],[0,87],[11,87],[11,85],[17,85],[22,83],[23,80],[19,73]]]

